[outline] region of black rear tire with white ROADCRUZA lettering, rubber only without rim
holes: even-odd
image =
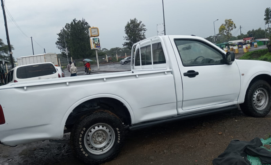
[[[97,123],[108,124],[115,132],[113,146],[110,150],[100,155],[89,152],[84,140],[87,130]],[[84,163],[90,165],[102,164],[114,159],[118,155],[123,146],[124,134],[123,123],[115,114],[107,110],[97,110],[82,116],[72,127],[70,136],[71,150],[75,157]]]

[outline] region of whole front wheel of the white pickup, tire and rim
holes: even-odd
[[[265,80],[256,80],[247,89],[243,113],[252,117],[265,117],[271,109],[271,86]]]

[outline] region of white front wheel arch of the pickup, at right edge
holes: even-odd
[[[240,92],[240,94],[242,94],[242,95],[240,95],[239,98],[238,98],[238,104],[243,103],[245,101],[245,96],[246,96],[247,89],[248,89],[249,85],[251,83],[253,83],[254,80],[257,80],[257,79],[265,80],[271,85],[271,73],[270,72],[258,72],[256,74],[254,74],[247,81],[246,87],[243,90],[243,92],[242,93]],[[241,84],[241,86],[242,86],[242,84]]]

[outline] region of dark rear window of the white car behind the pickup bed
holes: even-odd
[[[38,64],[22,66],[17,69],[16,76],[19,79],[46,76],[56,73],[53,64]]]

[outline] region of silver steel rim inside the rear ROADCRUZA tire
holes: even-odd
[[[91,126],[84,137],[87,150],[95,155],[104,154],[114,145],[115,131],[106,123],[97,123]]]

